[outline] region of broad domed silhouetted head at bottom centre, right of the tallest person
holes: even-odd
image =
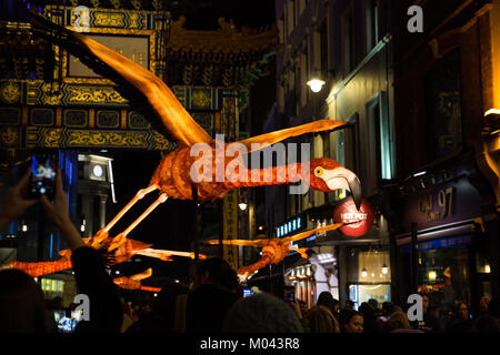
[[[278,297],[259,293],[238,300],[229,310],[223,333],[303,333],[293,310]]]

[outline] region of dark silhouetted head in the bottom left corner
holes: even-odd
[[[4,268],[0,285],[0,333],[44,333],[43,293],[33,277]]]

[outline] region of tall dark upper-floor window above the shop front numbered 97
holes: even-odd
[[[424,81],[429,162],[446,158],[461,148],[460,85],[460,51],[457,49],[439,60]]]

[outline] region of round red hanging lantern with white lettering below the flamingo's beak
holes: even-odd
[[[373,225],[373,210],[363,199],[358,211],[352,196],[348,196],[334,207],[333,219],[336,223],[349,223],[339,229],[343,234],[353,237],[361,236],[367,234]]]

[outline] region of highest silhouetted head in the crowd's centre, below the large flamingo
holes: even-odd
[[[236,291],[239,285],[236,271],[220,257],[209,257],[197,263],[193,278],[193,288],[203,284],[216,284]]]

